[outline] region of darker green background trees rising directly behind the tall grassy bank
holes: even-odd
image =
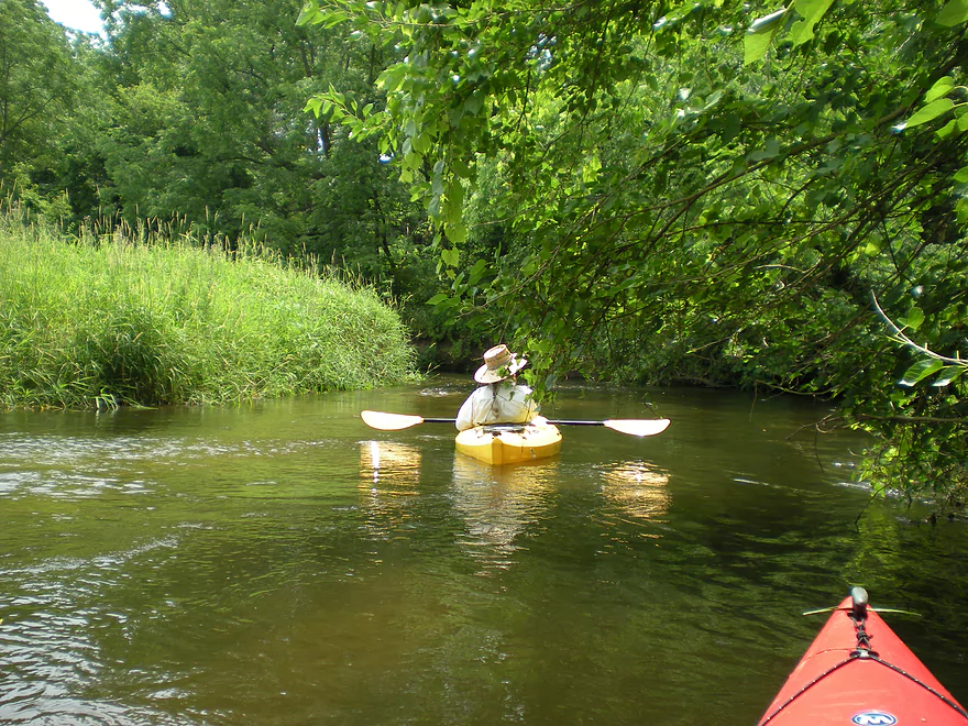
[[[375,99],[380,53],[297,28],[299,0],[98,4],[106,37],[68,37],[40,0],[2,3],[8,193],[74,233],[244,234],[419,300],[403,310],[441,338],[422,209],[375,143],[302,111],[330,86]]]

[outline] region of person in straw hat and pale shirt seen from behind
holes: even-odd
[[[517,383],[517,373],[528,364],[524,358],[501,344],[484,353],[484,365],[474,381],[484,384],[472,393],[458,411],[459,431],[485,424],[528,424],[538,416],[531,389]]]

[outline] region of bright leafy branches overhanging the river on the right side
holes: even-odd
[[[305,23],[397,55],[385,110],[309,108],[426,199],[438,306],[506,321],[550,378],[834,396],[883,486],[958,506],[968,3],[774,10],[314,0]]]

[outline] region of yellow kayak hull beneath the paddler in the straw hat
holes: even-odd
[[[479,461],[516,464],[557,454],[561,431],[550,424],[494,424],[461,431],[455,443],[458,451]]]

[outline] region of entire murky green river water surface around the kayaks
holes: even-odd
[[[855,526],[823,409],[573,387],[673,424],[499,470],[358,417],[470,388],[0,416],[0,723],[751,724],[848,584],[968,702],[968,531]]]

